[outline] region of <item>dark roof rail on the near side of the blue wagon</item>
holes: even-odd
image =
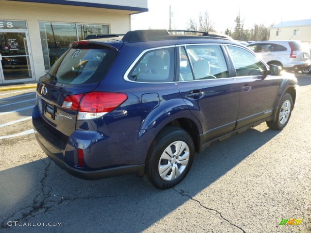
[[[169,32],[184,32],[184,33],[200,33],[202,35],[190,34],[169,34]],[[122,41],[124,42],[140,42],[140,41],[155,41],[165,39],[193,39],[193,37],[212,38],[212,39],[226,39],[234,40],[230,36],[216,32],[203,32],[193,30],[135,30],[129,31],[124,35]]]

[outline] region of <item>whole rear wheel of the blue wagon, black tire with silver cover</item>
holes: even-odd
[[[178,146],[180,149],[176,150]],[[171,152],[171,156],[168,152]],[[158,189],[168,189],[177,185],[190,170],[194,154],[193,140],[187,131],[176,126],[165,127],[149,149],[145,180]],[[163,178],[160,171],[163,171]]]

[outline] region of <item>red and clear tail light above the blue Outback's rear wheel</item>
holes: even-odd
[[[88,120],[111,112],[127,98],[128,96],[124,93],[90,92],[67,96],[62,107],[78,110],[78,120]]]

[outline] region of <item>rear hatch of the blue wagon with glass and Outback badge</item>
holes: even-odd
[[[64,141],[76,129],[80,100],[103,80],[122,44],[75,42],[39,79],[37,98],[43,122]]]

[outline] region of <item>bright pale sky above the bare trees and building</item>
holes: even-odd
[[[311,19],[311,1],[280,0],[148,0],[148,12],[132,15],[132,30],[169,29],[171,6],[172,29],[185,30],[190,19],[198,21],[200,13],[207,11],[209,19],[219,33],[226,28],[234,30],[235,18],[240,14],[244,29],[254,24],[276,25],[282,21]]]

